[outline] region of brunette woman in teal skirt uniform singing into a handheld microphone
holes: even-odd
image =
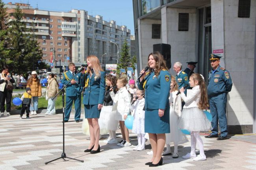
[[[145,88],[145,132],[148,133],[153,150],[149,166],[162,165],[161,154],[165,146],[165,133],[170,133],[169,91],[171,75],[165,60],[159,52],[148,55],[149,72],[141,71],[143,76],[138,82],[139,90]]]

